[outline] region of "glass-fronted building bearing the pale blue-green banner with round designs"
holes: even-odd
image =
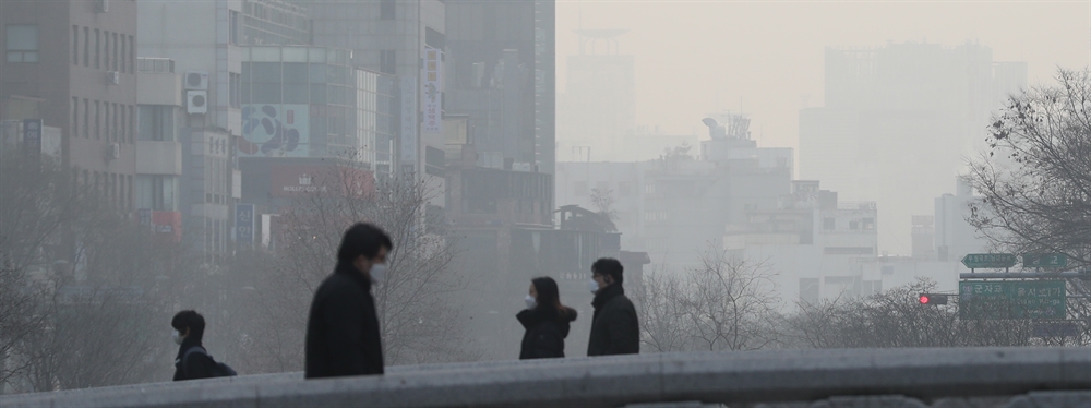
[[[379,163],[376,141],[394,136],[393,75],[351,65],[351,51],[244,47],[239,157],[343,157]],[[388,146],[387,146],[388,147]]]

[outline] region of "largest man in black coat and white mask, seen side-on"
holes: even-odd
[[[305,377],[383,373],[372,283],[385,275],[391,238],[370,224],[353,225],[341,239],[337,267],[319,286],[307,322]]]

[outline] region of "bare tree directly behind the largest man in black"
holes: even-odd
[[[262,327],[249,339],[268,355],[268,361],[254,364],[259,371],[302,368],[311,298],[334,268],[341,235],[357,221],[376,224],[394,241],[386,277],[374,289],[386,363],[477,358],[451,302],[461,287],[448,267],[453,242],[441,216],[425,211],[436,192],[415,180],[371,188],[369,176],[352,168],[312,175],[325,191],[293,200],[280,215],[285,230],[277,265],[256,285]]]

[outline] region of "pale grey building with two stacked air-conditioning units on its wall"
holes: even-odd
[[[231,208],[241,190],[236,148],[242,135],[242,4],[148,0],[139,9],[137,53],[170,59],[182,75],[178,211],[183,240],[209,264],[233,249]]]

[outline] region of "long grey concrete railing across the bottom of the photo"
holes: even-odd
[[[1017,396],[1091,391],[1089,348],[770,350],[391,368],[383,376],[299,373],[0,397],[16,407],[615,407],[815,401],[837,396]]]

